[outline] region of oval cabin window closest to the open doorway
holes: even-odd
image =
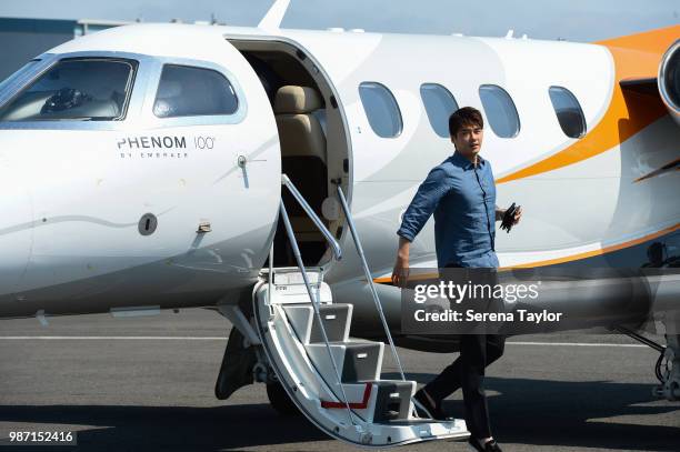
[[[363,82],[359,86],[359,97],[369,124],[378,137],[394,138],[401,133],[401,112],[389,89],[380,83]]]

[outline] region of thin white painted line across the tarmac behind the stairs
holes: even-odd
[[[103,340],[103,341],[226,341],[221,337],[187,337],[187,335],[4,335],[0,340]],[[588,342],[506,342],[508,345],[539,345],[539,346],[618,346],[628,349],[642,349],[647,345],[629,343],[588,343]]]

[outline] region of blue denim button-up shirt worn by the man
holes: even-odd
[[[491,164],[477,168],[458,152],[434,167],[418,188],[397,233],[412,242],[434,212],[439,268],[447,264],[498,268],[496,184]]]

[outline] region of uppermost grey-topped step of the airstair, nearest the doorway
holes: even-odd
[[[352,318],[351,304],[321,304],[319,314],[329,342],[347,342]],[[300,342],[303,344],[322,343],[323,335],[319,319],[311,304],[289,304],[283,309]]]

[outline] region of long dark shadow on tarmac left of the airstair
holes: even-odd
[[[78,448],[63,448],[70,451],[219,451],[256,445],[276,449],[276,444],[281,443],[328,439],[303,416],[283,418],[268,404],[217,408],[0,405],[0,421],[98,426],[79,431]],[[14,449],[27,451],[23,446]]]

